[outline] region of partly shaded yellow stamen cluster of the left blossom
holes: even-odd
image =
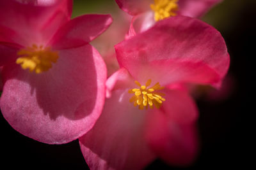
[[[30,72],[42,73],[52,67],[52,62],[56,63],[59,55],[58,52],[51,50],[51,47],[32,45],[19,50],[17,53],[20,57],[16,60],[22,69],[29,69]]]

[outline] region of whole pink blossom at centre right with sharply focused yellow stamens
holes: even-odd
[[[88,166],[142,169],[156,157],[191,164],[198,111],[177,84],[220,86],[230,61],[220,32],[197,19],[171,17],[115,49],[120,70],[108,78],[109,98],[95,126],[79,138]]]

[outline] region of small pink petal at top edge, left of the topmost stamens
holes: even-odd
[[[129,13],[130,15],[138,15],[147,10],[150,10],[152,0],[115,0],[119,8]]]

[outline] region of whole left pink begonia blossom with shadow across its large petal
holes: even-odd
[[[106,66],[90,41],[109,15],[70,20],[72,1],[0,1],[4,118],[21,134],[49,144],[89,131],[102,111]]]

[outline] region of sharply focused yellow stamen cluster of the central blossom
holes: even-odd
[[[131,89],[128,92],[133,94],[134,96],[131,97],[130,102],[134,104],[134,106],[138,106],[140,110],[143,110],[145,107],[146,109],[148,106],[150,108],[159,108],[165,99],[162,97],[165,94],[161,92],[157,92],[157,90],[162,90],[164,87],[161,87],[159,83],[156,83],[153,87],[147,89],[150,85],[151,80],[148,80],[146,85],[141,85],[138,81],[135,81],[136,85],[140,87],[140,89]]]

